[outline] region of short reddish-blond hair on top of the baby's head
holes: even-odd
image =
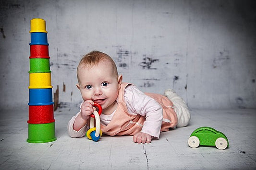
[[[91,68],[93,66],[97,66],[98,63],[101,61],[110,62],[110,65],[113,68],[114,75],[118,77],[117,67],[114,60],[109,55],[100,51],[91,51],[88,54],[85,54],[79,62],[76,72],[78,73],[78,69],[80,68]]]

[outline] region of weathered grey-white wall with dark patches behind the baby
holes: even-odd
[[[46,20],[59,106],[82,101],[80,58],[99,50],[142,91],[190,108],[256,107],[254,0],[1,0],[0,108],[27,108],[30,20]]]

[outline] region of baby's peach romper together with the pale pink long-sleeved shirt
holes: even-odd
[[[159,138],[160,131],[168,131],[169,128],[175,127],[178,120],[173,110],[173,103],[160,94],[145,94],[132,84],[122,83],[116,111],[110,116],[100,115],[102,132],[110,136],[144,132]],[[71,137],[85,136],[87,131],[85,126],[79,132],[73,130],[76,116],[69,121],[69,135]]]

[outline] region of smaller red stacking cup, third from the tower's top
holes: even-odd
[[[48,45],[30,45],[29,58],[50,58]]]

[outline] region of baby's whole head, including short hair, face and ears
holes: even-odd
[[[77,67],[77,87],[85,100],[101,104],[102,109],[115,102],[122,82],[113,59],[105,53],[92,51]]]

